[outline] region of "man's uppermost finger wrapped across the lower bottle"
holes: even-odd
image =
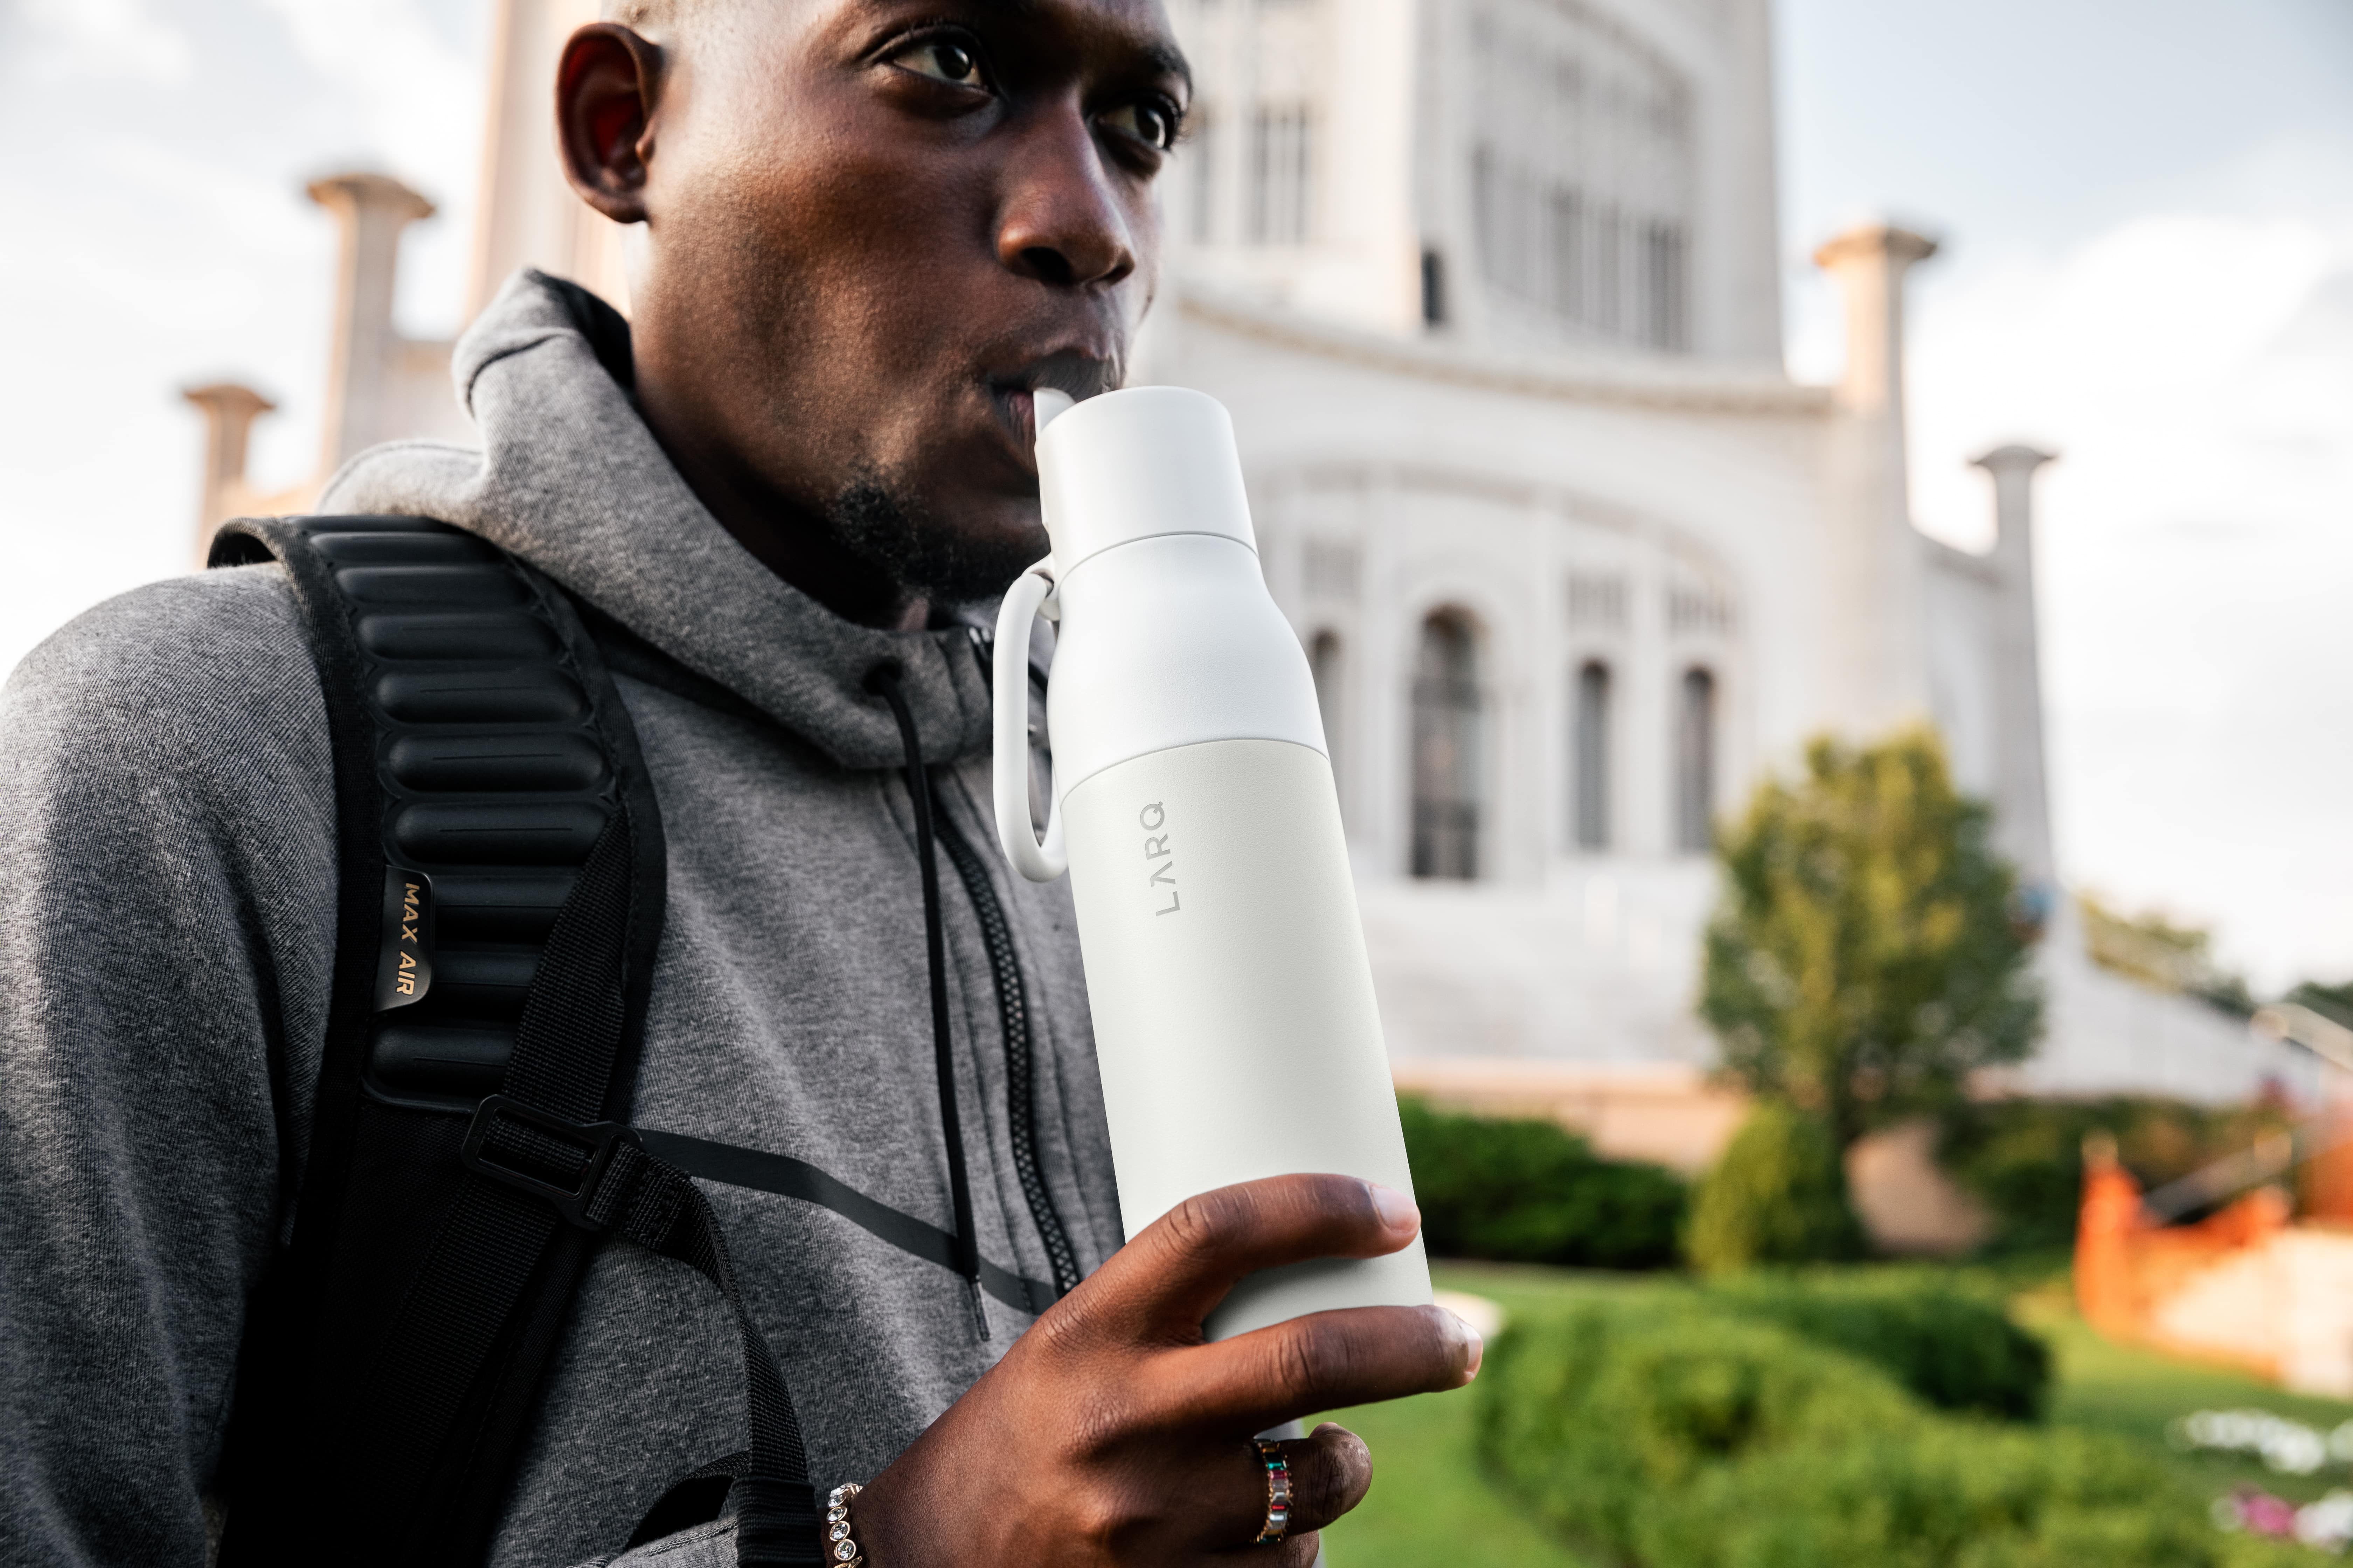
[[[1094,1307],[1191,1338],[1245,1274],[1308,1258],[1379,1258],[1421,1229],[1402,1192],[1353,1175],[1271,1175],[1186,1199],[1113,1253]]]

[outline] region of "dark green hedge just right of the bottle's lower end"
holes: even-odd
[[[1421,1234],[1438,1258],[1657,1269],[1675,1262],[1682,1182],[1600,1159],[1551,1121],[1497,1121],[1398,1100]]]

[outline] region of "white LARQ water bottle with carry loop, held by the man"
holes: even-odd
[[[998,614],[998,837],[1031,882],[1071,872],[1127,1234],[1261,1175],[1412,1192],[1315,679],[1259,571],[1233,421],[1184,388],[1040,393],[1038,416],[1052,555]],[[1040,611],[1059,621],[1045,844]],[[1207,1331],[1428,1300],[1417,1237],[1254,1274]]]

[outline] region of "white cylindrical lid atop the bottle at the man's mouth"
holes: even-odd
[[[1217,534],[1257,550],[1233,416],[1207,393],[1134,386],[1056,414],[1038,433],[1038,496],[1054,567],[1160,534]]]

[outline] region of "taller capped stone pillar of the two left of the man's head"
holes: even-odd
[[[402,341],[393,282],[400,230],[433,216],[433,202],[386,174],[329,174],[311,183],[311,200],[334,214],[344,235],[320,435],[320,468],[334,473],[351,454],[409,435],[398,428]]]

